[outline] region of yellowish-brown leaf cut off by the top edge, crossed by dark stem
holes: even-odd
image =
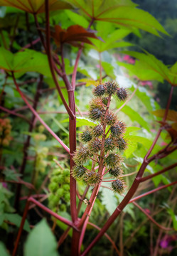
[[[31,14],[45,12],[45,0],[0,0],[0,6],[15,7]],[[72,9],[72,6],[64,1],[50,0],[49,9],[50,11]]]

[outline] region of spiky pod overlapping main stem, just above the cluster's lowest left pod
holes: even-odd
[[[75,151],[73,160],[75,161],[75,164],[82,165],[87,161],[90,155],[90,150],[87,147],[80,146],[80,148]]]

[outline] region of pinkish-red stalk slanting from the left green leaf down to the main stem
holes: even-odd
[[[26,105],[28,106],[28,108],[33,112],[33,114],[37,117],[37,119],[41,122],[41,124],[43,124],[43,126],[45,127],[45,129],[48,130],[48,132],[50,132],[50,134],[61,144],[61,146],[63,146],[63,149],[65,149],[65,151],[67,151],[68,153],[70,153],[70,149],[68,148],[68,146],[66,146],[63,141],[55,134],[55,132],[53,132],[52,129],[50,129],[50,127],[48,127],[47,124],[45,124],[45,122],[43,121],[43,119],[38,115],[38,113],[36,112],[36,110],[33,109],[33,107],[29,104],[28,100],[26,100],[26,97],[23,95],[23,93],[21,92],[20,88],[18,87],[18,84],[16,82],[16,78],[14,77],[14,73],[12,73],[12,78],[14,80],[14,84],[16,85],[16,90],[19,92],[19,94],[21,95],[23,101],[26,103]]]

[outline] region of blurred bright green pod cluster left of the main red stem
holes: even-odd
[[[65,211],[70,202],[70,170],[54,169],[48,185],[50,196],[49,208],[55,213]]]

